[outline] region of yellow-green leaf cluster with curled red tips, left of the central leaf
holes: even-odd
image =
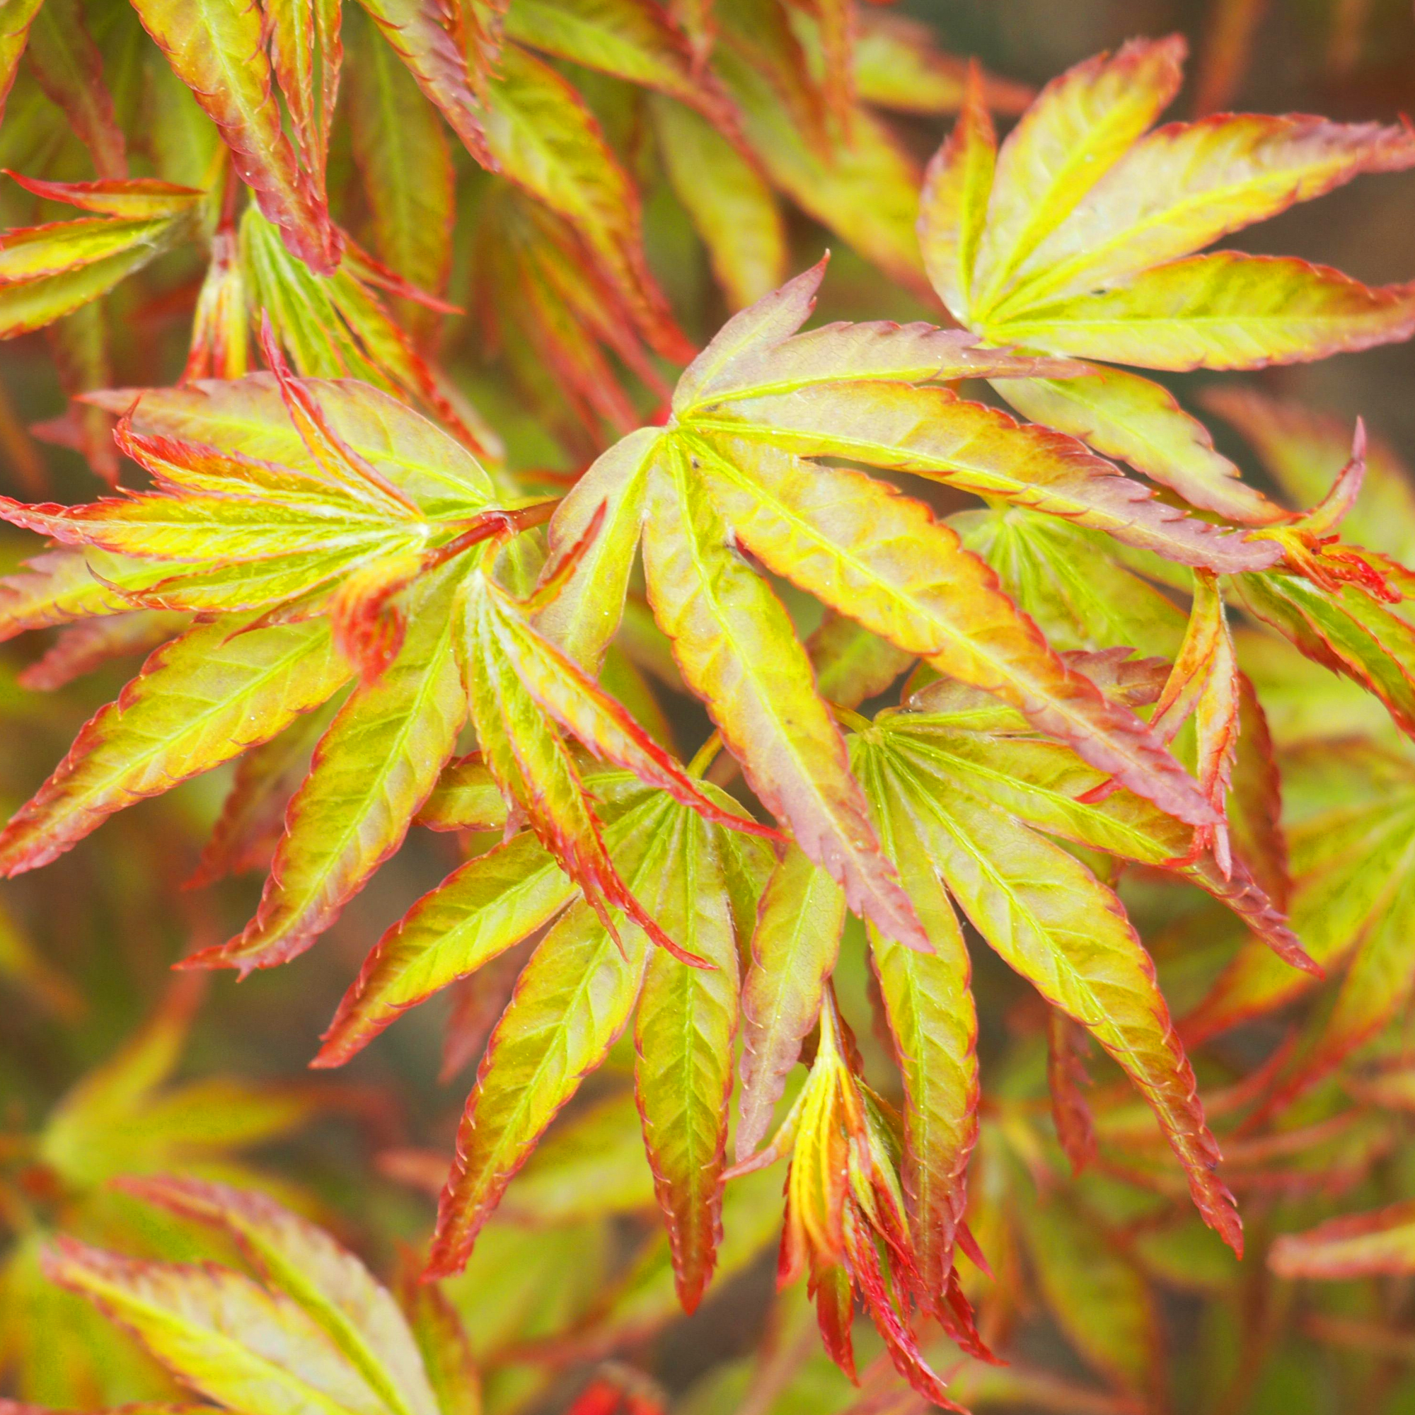
[[[142,584],[139,603],[218,613],[160,649],[85,729],[0,835],[0,863],[33,867],[127,801],[273,739],[354,668],[361,682],[294,795],[256,918],[191,964],[245,972],[307,948],[398,849],[468,713],[507,804],[603,917],[620,908],[693,957],[618,876],[560,730],[719,824],[773,832],[705,795],[487,577],[488,538],[519,522],[488,507],[468,453],[371,388],[297,379],[269,341],[267,357],[275,376],[136,400],[133,416],[163,432],[127,420],[123,446],[158,490],[91,508],[7,505],[65,541],[161,562],[167,573]],[[55,617],[65,613],[30,608],[31,623]]]

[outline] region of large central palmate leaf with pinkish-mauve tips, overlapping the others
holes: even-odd
[[[860,473],[778,446],[914,467],[908,439],[923,415],[906,412],[891,422],[890,399],[907,409],[914,393],[930,393],[914,385],[931,378],[1027,374],[1036,366],[923,325],[832,325],[794,335],[821,275],[816,267],[729,321],[679,382],[668,429],[625,439],[566,497],[550,525],[552,546],[563,552],[580,542],[591,516],[601,518],[600,535],[543,627],[573,657],[596,662],[616,630],[642,535],[654,614],[753,790],[791,825],[805,855],[843,886],[852,908],[886,937],[921,947],[923,934],[865,819],[805,655],[780,601],[736,552],[739,545],[906,654],[1002,693],[1037,726],[1174,815],[1207,824],[1211,809],[1196,801],[1193,784],[1148,729],[1070,669],[998,591],[983,563],[923,505]],[[816,395],[815,420],[792,420]],[[828,409],[843,409],[835,416],[849,419],[850,399],[862,408],[862,432],[832,436],[836,423]],[[873,413],[863,410],[870,408]],[[996,441],[993,466],[1020,463],[1023,470],[1009,474],[1024,501],[1037,497],[1043,477],[1073,477],[1081,467],[1098,485],[1124,488],[1126,532],[1139,521],[1138,508],[1148,505],[1133,497],[1139,488],[1109,464],[1088,464],[1074,443],[1039,441],[1033,430],[998,422],[947,393],[927,408],[937,417],[958,410],[964,449],[978,440],[981,417],[985,436]],[[958,460],[940,454],[928,467],[951,471]],[[990,478],[990,491],[999,480]],[[1157,539],[1184,536],[1184,525],[1167,509],[1150,522]],[[1173,542],[1169,548],[1190,560],[1227,555],[1220,545],[1231,546],[1240,560],[1268,560],[1272,553],[1271,546],[1245,546],[1234,536],[1214,541],[1210,550],[1213,535],[1213,528],[1196,526],[1187,549]],[[907,556],[899,549],[906,543]]]

